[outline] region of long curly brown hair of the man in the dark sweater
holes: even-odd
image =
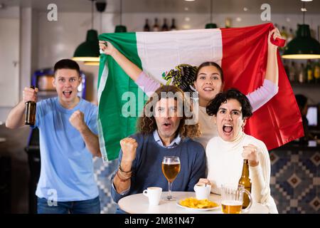
[[[186,116],[186,108],[188,108],[191,113],[193,113],[193,108],[190,100],[185,97],[183,90],[176,86],[161,86],[154,92],[153,95],[151,95],[149,100],[146,101],[146,104],[144,105],[143,115],[142,117],[139,117],[137,122],[137,129],[139,133],[142,133],[142,135],[147,135],[153,133],[154,130],[157,129],[156,119],[154,118],[154,107],[161,98],[174,98],[175,100],[178,100],[178,103],[180,103],[181,101],[181,103],[183,104],[181,110],[182,118],[176,131],[176,133],[180,134],[181,138],[196,138],[201,135],[198,123],[190,125],[186,124],[186,120],[192,119],[192,116]],[[196,114],[193,113],[193,115]]]

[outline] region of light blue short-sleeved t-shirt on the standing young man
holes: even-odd
[[[58,97],[41,100],[36,108],[41,173],[36,195],[58,202],[93,199],[99,195],[93,175],[92,154],[69,118],[75,110],[97,135],[97,106],[80,98],[75,108],[63,108]]]

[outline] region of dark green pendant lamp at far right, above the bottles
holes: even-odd
[[[304,3],[303,9],[304,20]],[[298,24],[297,36],[293,38],[292,41],[290,41],[284,48],[282,58],[320,58],[320,43],[315,38],[311,37],[309,25]]]

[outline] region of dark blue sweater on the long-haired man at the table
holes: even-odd
[[[206,177],[206,153],[203,146],[190,138],[181,140],[174,148],[161,147],[152,134],[132,135],[137,140],[137,154],[132,162],[132,177],[130,190],[126,195],[120,195],[111,187],[111,195],[114,202],[127,195],[142,193],[147,187],[162,187],[162,191],[168,191],[168,181],[161,170],[164,156],[178,156],[181,162],[181,170],[174,180],[172,191],[193,192],[193,187],[200,178]],[[119,153],[119,164],[122,159],[122,150]],[[116,171],[117,172],[117,171]],[[114,173],[114,175],[116,174]],[[111,182],[113,182],[113,177]]]

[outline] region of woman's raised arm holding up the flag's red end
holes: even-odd
[[[267,53],[267,69],[265,73],[265,81],[260,88],[247,94],[250,100],[252,110],[255,110],[265,105],[271,98],[278,93],[279,71],[277,63],[277,46],[271,43],[271,36],[282,38],[277,28],[270,31],[268,36],[268,53]]]

